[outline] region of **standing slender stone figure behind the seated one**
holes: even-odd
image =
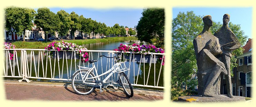
[[[223,26],[217,32],[215,32],[214,36],[216,36],[219,39],[219,44],[222,50],[222,54],[219,55],[218,59],[225,64],[225,68],[227,69],[227,75],[224,74],[227,83],[227,94],[228,97],[233,98],[232,83],[230,76],[230,58],[232,50],[238,49],[241,46],[241,44],[236,38],[235,34],[228,27],[229,18],[229,14],[223,15]]]

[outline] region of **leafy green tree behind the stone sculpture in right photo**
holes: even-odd
[[[173,88],[178,88],[183,82],[187,84],[191,76],[197,72],[193,40],[203,30],[204,23],[202,18],[203,16],[195,15],[193,11],[188,11],[186,13],[179,12],[177,17],[173,19],[171,73]],[[222,23],[213,21],[211,33],[214,34],[221,26]],[[229,22],[229,28],[234,32],[239,42],[244,45],[247,36],[240,29],[240,25]],[[242,47],[232,52],[231,70],[234,66],[237,66],[234,55],[242,53]]]

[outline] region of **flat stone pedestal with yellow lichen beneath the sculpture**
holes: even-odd
[[[226,95],[218,95],[217,97],[202,97],[198,95],[180,96],[178,97],[178,102],[189,102],[189,103],[245,102],[245,97],[234,96],[234,98],[229,98]]]

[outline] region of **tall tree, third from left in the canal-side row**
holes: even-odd
[[[60,10],[57,12],[57,15],[60,19],[60,28],[57,30],[58,33],[62,36],[66,35],[70,29],[71,17],[69,17],[69,13],[64,10]],[[62,38],[61,38],[62,39]]]

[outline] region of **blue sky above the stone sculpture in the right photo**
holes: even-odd
[[[241,29],[248,38],[252,38],[252,8],[173,8],[173,18],[179,12],[194,11],[196,15],[211,15],[215,22],[223,23],[223,15],[229,14],[233,24],[240,24]],[[203,21],[203,20],[202,20]]]

